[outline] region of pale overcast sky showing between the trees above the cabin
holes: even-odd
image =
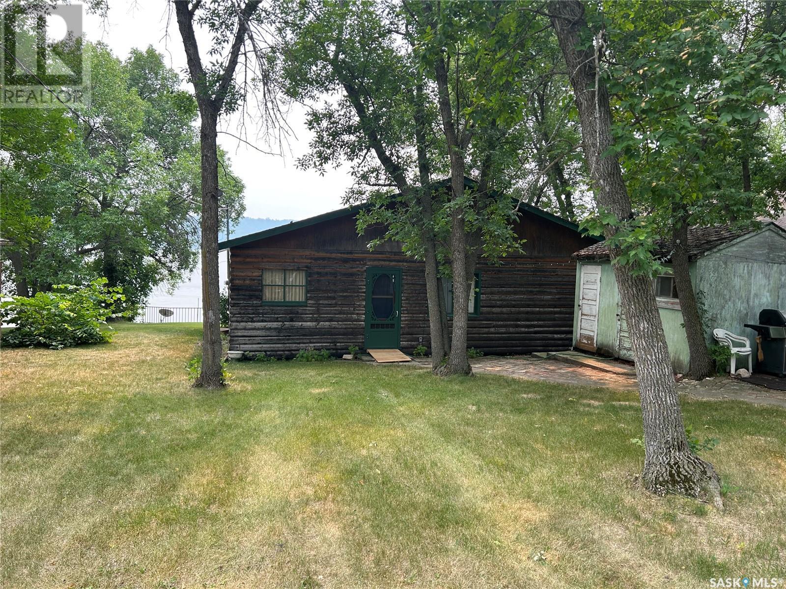
[[[105,42],[121,59],[128,57],[134,47],[152,45],[163,54],[165,63],[185,78],[185,53],[174,11],[167,38],[167,2],[113,0],[106,20],[84,15],[84,32],[90,41]],[[203,34],[197,39],[204,60],[209,37]],[[187,87],[193,91],[190,85]],[[296,159],[307,152],[310,139],[303,112],[303,108],[296,108],[288,117],[296,137],[289,142],[292,154],[283,159],[263,155],[233,137],[219,134],[219,145],[230,154],[235,174],[245,183],[246,216],[298,220],[342,207],[341,199],[352,182],[346,168],[320,176],[314,170],[296,167]],[[237,121],[225,122],[223,128],[237,134]],[[249,129],[249,141],[254,141],[253,136]],[[260,141],[259,148],[266,145]]]

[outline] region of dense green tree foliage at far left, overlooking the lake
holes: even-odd
[[[87,49],[101,72],[89,108],[3,112],[4,273],[18,294],[105,276],[134,307],[196,264],[196,102],[152,48]],[[237,221],[243,183],[221,161],[222,214]]]

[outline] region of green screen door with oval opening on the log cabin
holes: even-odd
[[[365,349],[401,345],[401,270],[365,270]]]

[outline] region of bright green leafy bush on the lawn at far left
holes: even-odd
[[[106,284],[105,278],[84,287],[57,284],[52,291],[3,302],[0,319],[17,327],[3,334],[2,345],[63,349],[111,341],[114,330],[106,326],[106,320],[125,315],[112,309],[126,297],[121,287]]]

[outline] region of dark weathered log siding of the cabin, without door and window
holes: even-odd
[[[527,239],[527,255],[478,266],[480,314],[469,318],[468,346],[495,354],[568,349],[575,291],[570,255],[590,242],[534,215],[517,231]],[[406,258],[398,243],[369,252],[365,244],[379,233],[358,237],[354,218],[347,217],[233,247],[230,349],[288,357],[307,347],[362,348],[369,266],[402,269],[401,349],[429,346],[423,265]],[[263,305],[263,268],[307,270],[306,305]]]

